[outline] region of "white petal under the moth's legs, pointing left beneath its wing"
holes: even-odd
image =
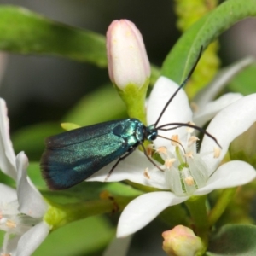
[[[86,182],[100,181],[100,182],[118,182],[125,179],[134,183],[140,183],[145,186],[150,186],[158,189],[169,189],[165,182],[164,172],[160,172],[143,152],[136,150],[129,155],[125,160],[119,162],[108,177],[108,173],[116,163],[116,160],[103,167],[99,172],[86,179]],[[158,164],[155,161],[156,164]],[[146,169],[148,171],[146,172]],[[108,179],[106,180],[106,178]]]

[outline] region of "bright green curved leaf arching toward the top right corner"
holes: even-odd
[[[204,49],[237,21],[256,15],[255,0],[229,0],[198,20],[177,41],[164,61],[161,74],[181,84],[188,75],[201,46]]]

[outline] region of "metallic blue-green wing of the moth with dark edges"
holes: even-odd
[[[123,125],[122,121],[103,124],[64,132],[46,140],[41,170],[49,188],[72,187],[128,151],[131,145],[113,133],[118,125]]]

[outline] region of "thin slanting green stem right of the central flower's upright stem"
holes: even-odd
[[[223,214],[224,210],[230,203],[233,195],[236,194],[236,188],[224,189],[222,194],[219,196],[217,203],[212,208],[212,211],[209,214],[208,222],[209,226],[212,226],[218,221],[218,218]]]

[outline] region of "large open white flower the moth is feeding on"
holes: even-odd
[[[163,77],[158,79],[148,101],[148,124],[154,124],[161,110],[175,90],[177,90],[177,84],[173,83],[171,80]],[[117,236],[128,236],[140,230],[166,207],[186,201],[191,195],[206,195],[214,189],[236,187],[252,181],[253,178],[256,177],[256,172],[253,167],[246,162],[236,160],[227,162],[221,166],[220,162],[226,154],[230,142],[253,125],[255,120],[256,94],[242,97],[221,110],[207,127],[207,132],[212,134],[222,146],[219,156],[217,158],[213,157],[214,148],[218,146],[210,137],[204,136],[198,154],[195,152],[195,145],[192,146],[191,150],[194,159],[189,159],[189,157],[186,159],[188,159],[189,166],[187,169],[193,169],[193,173],[188,173],[190,173],[193,178],[193,184],[193,181],[196,180],[196,169],[200,172],[202,170],[203,174],[200,173],[198,175],[202,177],[202,179],[200,179],[200,182],[202,182],[197,187],[193,185],[194,187],[191,191],[177,189],[177,191],[181,192],[178,193],[178,195],[171,191],[173,185],[170,179],[166,178],[170,170],[165,168],[166,172],[160,172],[148,161],[142,152],[136,150],[131,156],[127,157],[127,159],[121,161],[108,178],[108,182],[129,179],[135,183],[141,183],[158,189],[168,189],[170,191],[147,193],[131,201],[131,203],[125,207],[124,212],[122,212],[119,218]],[[189,121],[193,121],[193,114],[189,108],[187,96],[183,90],[180,90],[170,106],[166,109],[166,112],[163,114],[157,126],[169,123],[187,124]],[[161,136],[171,138],[173,135],[176,135],[179,138],[179,141],[184,147],[184,150],[179,149],[179,153],[177,153],[177,147],[173,147],[170,140],[158,137],[154,141],[154,148],[165,147],[167,154],[171,155],[170,159],[172,159],[173,156],[175,157],[176,161],[173,161],[174,167],[178,161],[179,164],[181,164],[181,160],[178,160],[178,154],[189,153],[187,151],[189,148],[187,130],[187,127],[179,127],[171,131],[159,131],[159,135]],[[195,165],[200,166],[200,168],[195,168]],[[104,181],[112,166],[113,163],[105,166],[100,172],[96,172],[88,180]],[[188,170],[185,171],[187,172]],[[184,177],[172,178],[175,179],[175,183],[191,182],[190,179],[186,181]],[[174,180],[172,180],[172,182],[174,183]]]

